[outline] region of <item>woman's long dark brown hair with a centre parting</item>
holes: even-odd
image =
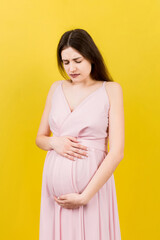
[[[61,75],[67,79],[61,58],[62,50],[72,47],[76,49],[84,58],[91,62],[92,68],[90,76],[99,81],[113,81],[104,59],[94,43],[89,33],[83,29],[74,29],[65,32],[57,46],[57,64]]]

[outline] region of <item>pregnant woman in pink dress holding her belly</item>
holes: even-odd
[[[120,240],[113,172],[124,155],[122,88],[83,29],[62,35],[57,61],[64,79],[50,87],[36,137],[47,151],[39,239]]]

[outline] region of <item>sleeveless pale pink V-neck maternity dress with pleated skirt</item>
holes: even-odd
[[[88,146],[88,157],[76,161],[54,150],[46,154],[41,189],[40,240],[120,240],[114,175],[87,205],[66,209],[53,196],[81,193],[107,155],[109,98],[103,85],[72,112],[62,82],[52,95],[50,129],[55,136],[74,136]]]

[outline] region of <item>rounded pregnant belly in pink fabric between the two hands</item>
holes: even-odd
[[[106,153],[92,149],[84,159],[69,160],[54,150],[46,156],[46,184],[49,195],[81,193],[92,179]]]

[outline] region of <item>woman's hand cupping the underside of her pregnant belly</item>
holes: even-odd
[[[79,208],[86,204],[84,201],[82,194],[79,193],[69,193],[65,195],[61,195],[58,197],[54,196],[55,201],[64,208]]]

